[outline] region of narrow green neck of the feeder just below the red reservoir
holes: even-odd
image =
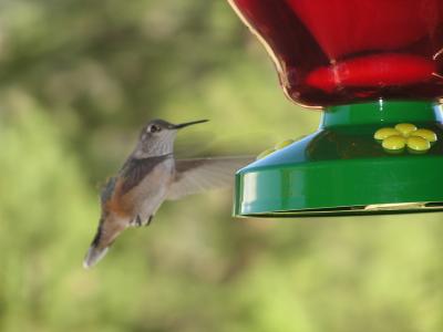
[[[430,101],[384,101],[328,107],[322,115],[320,128],[389,124],[401,122],[443,122],[443,107]]]

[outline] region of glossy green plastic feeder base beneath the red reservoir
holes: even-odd
[[[442,115],[442,107],[430,102],[331,107],[316,133],[237,173],[234,212],[301,217],[443,210]],[[384,127],[390,129],[379,131]]]

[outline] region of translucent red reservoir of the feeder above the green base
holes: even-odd
[[[443,96],[441,0],[228,0],[308,106]]]

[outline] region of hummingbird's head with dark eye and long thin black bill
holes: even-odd
[[[207,122],[207,120],[181,124],[172,124],[164,120],[153,120],[140,133],[134,156],[146,158],[171,154],[174,149],[174,141],[178,129],[204,122]]]

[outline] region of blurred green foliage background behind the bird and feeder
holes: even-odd
[[[83,270],[99,187],[154,117],[210,118],[178,135],[195,156],[259,153],[319,114],[226,1],[0,1],[0,331],[443,330],[442,215],[234,219],[212,193]]]

